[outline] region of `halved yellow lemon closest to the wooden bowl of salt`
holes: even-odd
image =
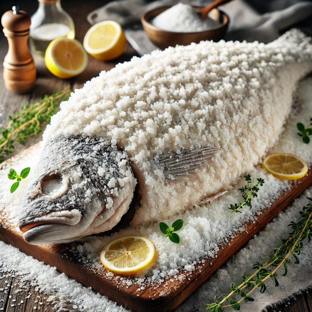
[[[121,26],[114,21],[93,25],[83,39],[85,51],[102,61],[113,60],[124,53],[127,40]]]

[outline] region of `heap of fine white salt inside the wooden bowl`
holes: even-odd
[[[202,21],[197,12],[189,4],[178,3],[154,17],[150,23],[169,32],[203,32],[220,23],[207,16]]]

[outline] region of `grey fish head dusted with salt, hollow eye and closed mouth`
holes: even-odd
[[[18,227],[35,245],[69,243],[110,230],[127,212],[135,185],[126,152],[110,142],[50,139],[26,190]]]

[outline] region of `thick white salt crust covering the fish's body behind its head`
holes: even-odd
[[[97,136],[125,150],[142,195],[132,225],[157,222],[230,189],[261,161],[311,59],[310,39],[297,30],[267,45],[204,41],[153,51],[75,90],[44,142]],[[222,151],[189,178],[165,181],[151,164],[155,155],[200,146]]]

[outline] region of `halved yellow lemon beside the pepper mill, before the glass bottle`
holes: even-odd
[[[88,55],[78,40],[62,37],[50,42],[44,60],[53,75],[70,78],[85,70]]]

